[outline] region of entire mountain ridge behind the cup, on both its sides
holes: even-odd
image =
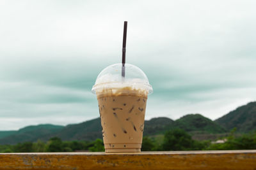
[[[256,102],[230,111],[227,115],[212,121],[198,113],[185,115],[173,121],[170,118],[158,117],[145,120],[143,136],[164,134],[170,129],[184,129],[193,134],[221,134],[237,127],[238,132],[250,132],[256,129]],[[47,141],[58,136],[64,141],[102,139],[100,118],[80,124],[67,125],[33,125],[19,131],[0,131],[0,144],[15,144],[24,141]]]

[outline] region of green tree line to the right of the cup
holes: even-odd
[[[154,138],[143,138],[143,151],[185,151],[185,150],[255,150],[256,131],[248,134],[235,134],[230,131],[224,143],[212,143],[210,140],[196,141],[182,129],[173,129],[164,134],[162,143]]]

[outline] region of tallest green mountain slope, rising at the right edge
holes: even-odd
[[[256,129],[256,102],[240,106],[227,115],[215,120],[228,131],[237,128],[237,132],[250,132]]]

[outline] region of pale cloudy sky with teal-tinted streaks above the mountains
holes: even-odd
[[[0,1],[0,131],[99,117],[91,89],[127,59],[146,119],[216,119],[256,100],[256,1]]]

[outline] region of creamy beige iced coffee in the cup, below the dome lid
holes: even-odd
[[[140,152],[147,92],[131,87],[97,93],[105,152]]]

